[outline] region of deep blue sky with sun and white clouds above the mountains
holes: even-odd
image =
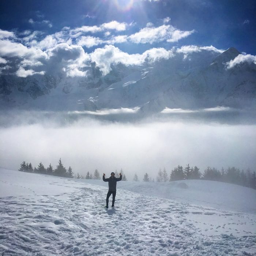
[[[58,54],[76,59],[77,67],[88,60],[99,64],[103,52],[104,60],[112,54],[117,62],[121,54],[136,64],[136,54],[184,46],[220,52],[233,46],[256,62],[255,13],[255,0],[1,1],[0,74],[14,63],[18,76],[45,74],[47,68],[38,67]],[[67,74],[85,75],[77,67]]]

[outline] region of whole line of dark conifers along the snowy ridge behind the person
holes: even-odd
[[[47,168],[44,167],[42,162],[39,163],[38,167],[33,168],[31,163],[26,163],[23,161],[20,164],[19,168],[20,172],[29,172],[29,173],[42,173],[42,174],[49,174],[59,177],[67,177],[67,178],[78,178],[78,179],[94,179],[100,180],[101,174],[97,169],[94,170],[93,173],[87,172],[86,176],[84,177],[82,174],[74,174],[72,172],[72,168],[69,166],[66,169],[61,159],[59,160],[59,164],[53,169],[53,166],[50,164]],[[116,170],[116,177],[119,177],[119,174]],[[120,170],[122,174],[122,181],[127,181],[123,169]],[[173,170],[171,170],[170,174],[167,173],[166,169],[163,168],[159,169],[156,177],[157,182],[167,182],[167,181],[178,181],[178,180],[212,180],[212,181],[221,181],[227,182],[231,184],[237,184],[244,187],[249,187],[256,189],[256,173],[252,172],[250,169],[246,171],[240,170],[236,167],[228,167],[226,170],[223,168],[218,170],[216,168],[207,167],[204,170],[203,174],[199,171],[197,166],[190,167],[189,164],[183,168],[182,166],[178,165]],[[137,174],[135,173],[133,177],[133,181],[139,181]],[[144,174],[143,178],[144,182],[152,181],[154,182],[155,179],[151,178],[148,173]]]

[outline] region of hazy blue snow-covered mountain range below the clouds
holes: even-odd
[[[142,65],[111,65],[103,75],[92,63],[86,77],[66,77],[53,68],[45,75],[0,77],[1,108],[101,110],[139,107],[139,112],[167,108],[256,106],[256,64],[227,63],[240,53],[200,50],[176,52],[169,59]]]

